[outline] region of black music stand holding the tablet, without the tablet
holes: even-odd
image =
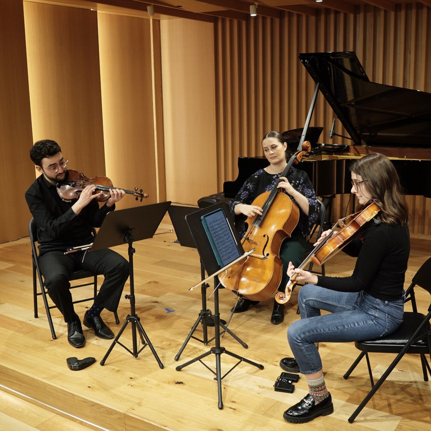
[[[220,266],[217,262],[217,259],[215,258],[214,252],[212,251],[211,244],[209,243],[208,237],[206,236],[206,232],[200,218],[202,215],[209,214],[210,212],[219,208],[223,209],[223,212],[225,213],[226,219],[228,220],[231,231],[234,235],[235,242],[237,243],[241,252],[244,253],[244,250],[242,250],[240,239],[234,228],[234,220],[225,202],[215,203],[215,205],[209,206],[205,209],[201,209],[200,211],[196,211],[196,212],[193,212],[192,214],[187,215],[186,216],[187,225],[190,228],[190,232],[196,244],[196,248],[200,255],[200,259],[202,260],[203,265],[208,274],[218,274],[220,272]],[[208,368],[213,374],[215,374],[214,380],[217,380],[219,409],[222,409],[223,408],[222,379],[225,378],[237,365],[239,365],[243,361],[261,370],[263,369],[263,365],[250,361],[250,359],[243,358],[242,356],[239,356],[236,353],[229,352],[224,347],[220,346],[220,314],[219,314],[219,289],[218,288],[214,290],[214,315],[213,316],[214,316],[214,329],[215,329],[215,347],[212,347],[208,352],[203,353],[202,355],[197,356],[194,359],[191,359],[191,361],[188,361],[183,365],[178,365],[178,367],[176,367],[176,370],[181,371],[181,369],[183,369],[184,367],[187,367],[187,365],[193,364],[194,362],[197,362],[197,361],[199,361],[206,368]],[[221,358],[220,358],[222,353],[226,353],[227,355],[238,359],[238,362],[223,376],[221,373]],[[211,354],[215,355],[215,369],[216,369],[215,372],[202,362],[203,358]]]

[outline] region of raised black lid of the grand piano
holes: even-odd
[[[299,58],[355,144],[431,148],[431,94],[371,82],[354,52]]]

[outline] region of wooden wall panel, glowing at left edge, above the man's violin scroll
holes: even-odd
[[[150,20],[98,13],[106,175],[155,203]],[[118,208],[142,205],[126,196]]]

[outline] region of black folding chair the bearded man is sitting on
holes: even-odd
[[[41,272],[41,269],[39,267],[39,262],[38,262],[38,258],[39,255],[37,253],[37,247],[36,247],[36,242],[37,242],[37,226],[36,223],[34,222],[34,219],[30,220],[30,223],[28,224],[28,234],[30,236],[30,244],[31,244],[31,260],[33,263],[33,302],[34,302],[34,317],[37,318],[37,297],[39,295],[42,295],[42,298],[44,300],[44,305],[45,305],[45,310],[47,312],[47,318],[48,318],[48,323],[50,325],[50,329],[51,329],[51,334],[53,337],[53,340],[55,340],[57,338],[55,331],[54,331],[54,325],[53,325],[53,320],[51,317],[51,312],[50,309],[52,308],[56,308],[55,305],[53,306],[49,306],[48,305],[48,300],[47,300],[47,291],[45,290],[45,286],[44,286],[44,281],[43,281],[43,275]],[[93,228],[93,234],[96,234],[96,231]],[[36,281],[36,273],[37,273],[37,278],[39,279],[39,284],[41,286],[41,292],[37,293],[37,281]],[[86,298],[86,299],[81,299],[78,301],[73,301],[74,304],[80,303],[80,302],[85,302],[85,301],[94,301],[94,299],[97,296],[97,274],[94,274],[94,272],[91,271],[85,271],[83,269],[77,269],[76,271],[74,271],[72,273],[72,275],[69,278],[69,281],[74,281],[74,280],[81,280],[82,278],[89,278],[92,277],[93,281],[91,281],[90,283],[84,283],[84,284],[78,284],[77,286],[71,286],[71,289],[75,289],[76,287],[83,287],[83,286],[91,286],[93,285],[93,296],[91,298]],[[120,323],[119,318],[118,318],[118,314],[117,312],[114,312],[114,317],[115,317],[115,322],[118,325]]]

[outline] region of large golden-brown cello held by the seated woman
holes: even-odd
[[[290,157],[280,177],[287,177],[290,168],[310,151],[309,141]],[[220,284],[237,295],[253,301],[265,300],[274,294],[281,282],[283,262],[278,256],[285,238],[290,237],[299,220],[299,209],[290,197],[277,188],[260,194],[252,206],[262,208],[262,215],[247,217],[247,231],[241,240],[244,252],[256,249],[252,259],[238,262],[226,270]],[[259,256],[258,259],[255,259]]]

